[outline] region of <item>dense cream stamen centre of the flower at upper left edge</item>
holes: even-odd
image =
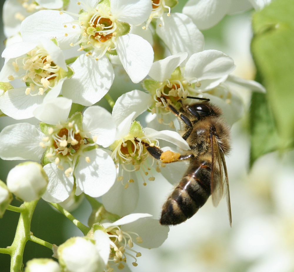
[[[22,82],[29,85],[26,94],[32,96],[43,95],[52,89],[62,77],[61,72],[64,71],[53,62],[47,51],[39,46],[28,52],[26,57],[16,58],[12,65],[16,72],[19,69],[24,70],[24,73],[17,78],[21,78]],[[8,78],[14,79],[13,76]]]

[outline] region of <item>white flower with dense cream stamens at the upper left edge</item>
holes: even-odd
[[[55,98],[64,80],[73,71],[66,66],[64,54],[56,45],[56,39],[40,38],[40,43],[17,42],[7,47],[2,57],[5,64],[0,81],[21,79],[24,87],[9,89],[0,97],[0,109],[14,119],[33,117],[33,111],[41,105],[45,96]]]

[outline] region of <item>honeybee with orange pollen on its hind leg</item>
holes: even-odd
[[[180,160],[189,160],[190,163],[183,178],[163,204],[160,224],[177,225],[186,221],[212,195],[214,206],[218,205],[222,197],[226,197],[231,225],[228,173],[224,158],[230,150],[230,137],[228,126],[221,118],[220,108],[208,102],[209,99],[191,105],[179,100],[181,108],[177,110],[166,97],[161,96],[161,100],[167,110],[177,116],[181,124],[180,134],[191,150],[181,155],[146,145],[148,152],[163,163]]]

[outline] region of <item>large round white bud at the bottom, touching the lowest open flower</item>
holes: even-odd
[[[105,264],[91,240],[72,237],[57,250],[59,264],[66,272],[102,272]]]

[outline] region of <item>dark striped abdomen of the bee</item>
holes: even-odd
[[[211,194],[211,161],[194,160],[163,204],[161,225],[177,225],[192,217]]]

